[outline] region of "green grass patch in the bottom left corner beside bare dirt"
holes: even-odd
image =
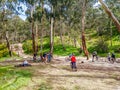
[[[0,67],[0,90],[18,90],[27,85],[32,73],[12,66]]]

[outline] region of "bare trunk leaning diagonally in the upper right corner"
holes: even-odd
[[[117,20],[117,18],[114,16],[114,14],[111,12],[111,10],[107,7],[107,5],[103,2],[103,0],[98,0],[106,13],[109,15],[109,17],[113,20],[115,26],[117,27],[118,31],[120,32],[120,22]]]

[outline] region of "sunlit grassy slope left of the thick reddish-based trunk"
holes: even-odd
[[[75,48],[74,46],[71,45],[72,43],[68,43],[67,37],[64,37],[64,40],[65,40],[64,46],[65,46],[66,50],[63,49],[62,44],[60,43],[60,38],[59,37],[54,38],[54,55],[65,56],[65,55],[69,55],[71,53],[74,53],[75,55],[80,55],[78,52],[79,47]],[[50,44],[49,44],[50,40],[48,37],[45,37],[43,39],[43,41],[44,41],[43,42],[43,53],[47,53],[50,51]],[[32,51],[29,51],[29,50],[32,50],[32,47],[31,47],[32,41],[29,40],[29,41],[25,42],[23,46],[24,46],[25,53],[30,54],[30,52],[32,52]],[[28,47],[29,47],[29,49],[28,49]],[[40,41],[39,41],[38,54],[40,54]]]

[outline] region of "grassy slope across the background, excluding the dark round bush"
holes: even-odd
[[[87,31],[87,33],[85,35],[86,35],[87,48],[91,54],[95,50],[95,46],[97,45],[96,43],[101,40],[101,37],[97,36],[96,32],[92,31],[92,30]],[[108,52],[115,52],[116,49],[118,49],[118,47],[120,47],[120,38],[118,35],[112,37],[112,46],[111,46],[111,42],[110,42],[109,37],[103,36],[103,38],[105,38],[105,40],[108,44]],[[64,46],[65,46],[66,50],[64,50],[62,47],[62,44],[60,42],[60,37],[57,36],[54,38],[54,54],[55,55],[64,56],[64,55],[69,55],[71,53],[75,53],[75,55],[77,55],[77,56],[84,55],[83,53],[79,53],[79,50],[80,50],[80,39],[79,38],[77,39],[78,40],[77,47],[74,47],[72,39],[69,39],[67,36],[64,36],[63,40],[64,40]],[[50,51],[49,37],[45,37],[43,39],[43,41],[44,41],[43,42],[43,53],[49,52]],[[28,41],[27,43],[29,43],[29,42],[31,42],[31,41]],[[27,47],[30,47],[29,50],[31,50],[32,49],[32,42],[31,42],[31,45],[27,46]],[[39,43],[39,47],[40,47],[40,43]],[[29,53],[29,52],[27,52],[27,53]],[[38,53],[40,53],[40,48],[38,50]],[[99,53],[98,52],[98,54],[100,56],[107,56],[107,53]],[[120,57],[119,53],[115,52],[115,54],[117,55],[117,57]]]

